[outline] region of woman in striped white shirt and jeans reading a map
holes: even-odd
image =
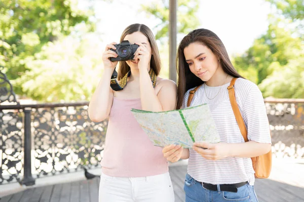
[[[250,158],[271,150],[261,91],[238,74],[222,41],[210,30],[197,29],[186,35],[177,57],[177,109],[208,104],[220,136],[219,143],[196,142],[191,149],[179,145],[163,149],[164,157],[171,162],[189,158],[185,201],[257,201]],[[228,89],[235,90],[233,95],[248,131],[247,142],[236,121]]]

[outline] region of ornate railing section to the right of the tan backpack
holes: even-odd
[[[276,158],[304,158],[304,103],[266,103]]]

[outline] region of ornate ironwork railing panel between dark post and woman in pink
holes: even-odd
[[[33,112],[34,167],[37,177],[99,166],[107,121],[89,120],[87,106]]]

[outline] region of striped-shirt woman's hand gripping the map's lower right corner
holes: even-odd
[[[230,144],[225,142],[195,142],[192,148],[205,159],[214,161],[229,157],[230,152]]]

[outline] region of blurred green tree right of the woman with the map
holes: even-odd
[[[237,70],[259,85],[263,96],[304,97],[304,1],[267,0],[276,9],[265,34],[241,56]]]

